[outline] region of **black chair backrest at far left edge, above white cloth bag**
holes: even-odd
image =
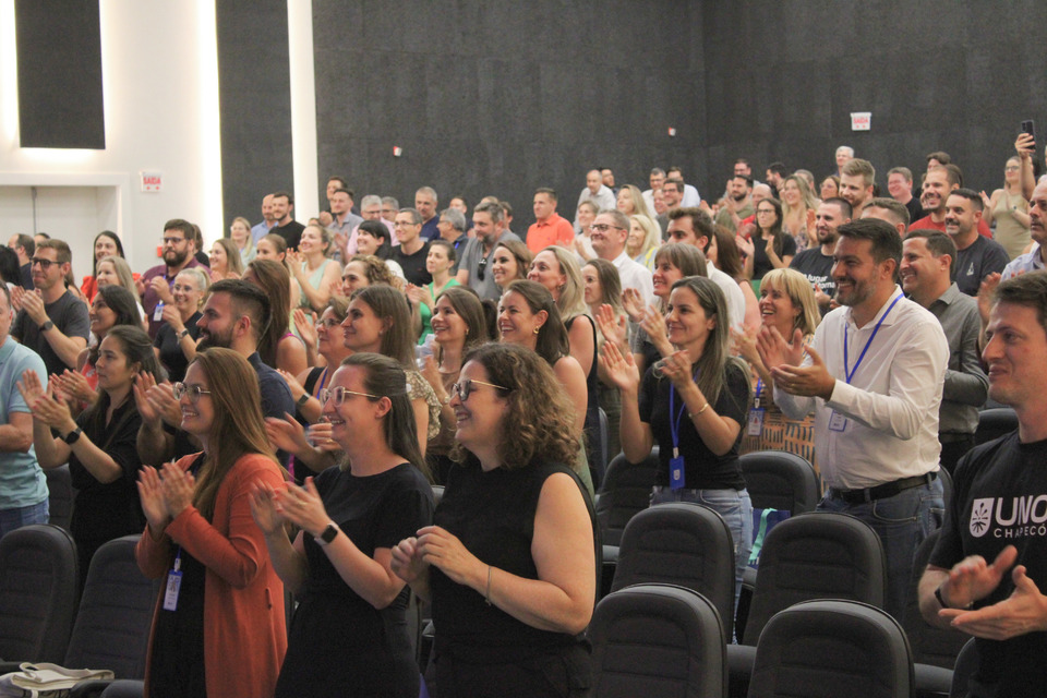
[[[0,657],[61,664],[79,586],[76,544],[65,530],[25,526],[0,539]]]

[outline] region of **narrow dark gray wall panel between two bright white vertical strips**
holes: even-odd
[[[221,198],[226,225],[262,219],[262,197],[293,191],[286,0],[217,0]],[[299,207],[296,207],[298,209]],[[313,206],[305,206],[313,215]],[[301,212],[296,210],[299,218]]]

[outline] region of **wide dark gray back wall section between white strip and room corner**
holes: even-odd
[[[705,157],[697,3],[314,0],[313,41],[317,180],[345,174],[358,200],[495,194],[524,231],[538,186],[573,216],[595,165],[646,189],[651,167]]]

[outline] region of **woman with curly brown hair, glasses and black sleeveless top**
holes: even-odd
[[[450,406],[465,465],[433,526],[393,549],[432,603],[440,696],[588,695],[594,517],[570,468],[574,406],[541,357],[506,344],[466,357]]]

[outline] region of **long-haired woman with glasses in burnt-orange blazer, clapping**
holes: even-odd
[[[174,384],[182,429],[203,453],[142,469],[139,567],[165,583],[146,695],[273,696],[287,648],[284,585],[251,519],[255,488],[284,486],[265,437],[257,376],[231,349],[196,354]]]

